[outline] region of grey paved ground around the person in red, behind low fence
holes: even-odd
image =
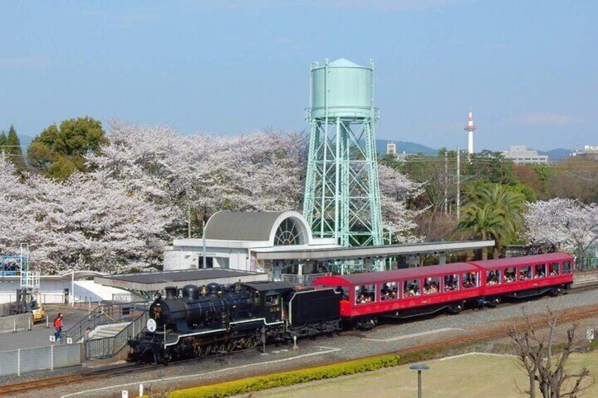
[[[34,325],[33,330],[23,330],[20,332],[3,332],[0,333],[0,352],[11,351],[13,349],[25,349],[33,347],[48,347],[51,344],[49,337],[54,335],[54,327],[52,322],[56,315],[60,312],[64,314],[63,321],[63,332],[68,328],[71,328],[76,322],[78,322],[83,316],[87,315],[86,310],[71,309],[58,306],[46,306],[46,313],[49,319],[49,328],[46,328],[45,323],[42,325],[37,323]],[[61,343],[57,343],[61,344]]]

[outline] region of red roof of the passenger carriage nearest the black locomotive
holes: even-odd
[[[318,278],[314,283],[315,285],[372,285],[374,283],[391,282],[393,280],[427,278],[429,276],[466,273],[475,270],[478,270],[478,268],[469,263],[451,263],[401,270],[325,276]]]

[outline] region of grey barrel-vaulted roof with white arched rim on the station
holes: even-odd
[[[310,227],[297,211],[219,211],[209,218],[205,236],[211,240],[269,241],[274,244],[276,228],[286,218],[293,218],[298,223],[305,243],[311,242]]]

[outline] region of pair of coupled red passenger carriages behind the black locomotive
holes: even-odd
[[[504,297],[556,294],[573,282],[572,264],[568,254],[541,254],[327,276],[314,286],[342,290],[341,316],[350,325],[367,328],[380,316],[459,312],[464,306],[494,306]]]

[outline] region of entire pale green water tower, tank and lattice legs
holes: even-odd
[[[382,244],[374,123],[374,63],[312,63],[303,215],[343,246]]]

